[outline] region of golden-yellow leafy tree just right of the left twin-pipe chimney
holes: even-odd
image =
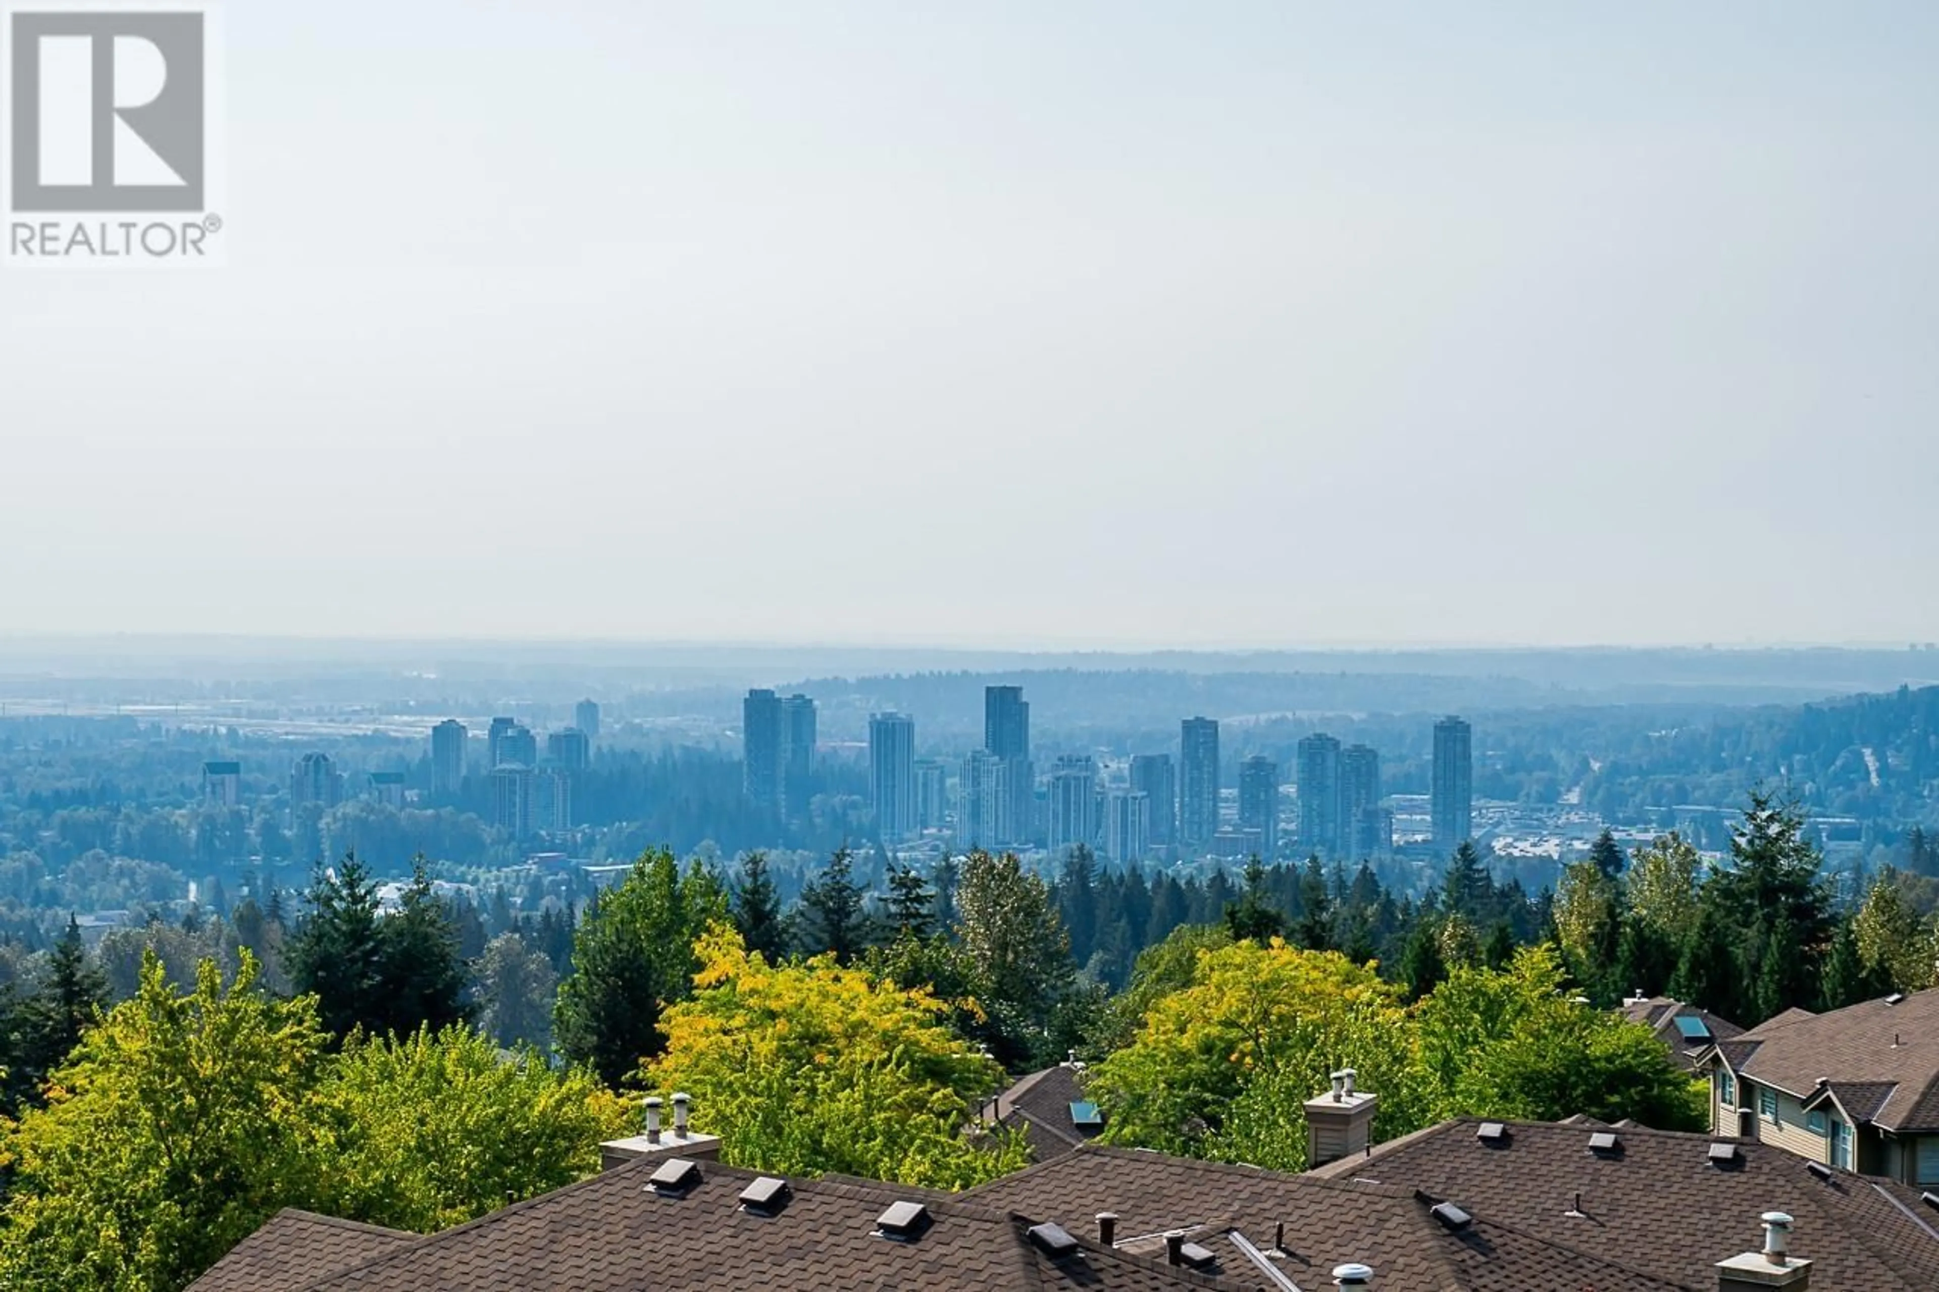
[[[962,1189],[1024,1164],[1018,1137],[964,1129],[1002,1081],[948,1007],[832,954],[772,966],[731,927],[698,947],[698,993],[667,1011],[646,1084],[694,1096],[721,1160],[779,1176],[840,1172]]]

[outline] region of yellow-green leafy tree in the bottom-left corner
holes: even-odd
[[[258,991],[248,953],[233,985],[206,962],[188,995],[149,958],[136,997],[54,1073],[48,1106],[6,1127],[0,1286],[175,1292],[301,1205],[322,1051],[312,1001]]]

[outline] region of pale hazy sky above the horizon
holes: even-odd
[[[1939,6],[231,0],[0,632],[1939,638]]]

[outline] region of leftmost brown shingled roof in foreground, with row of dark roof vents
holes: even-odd
[[[1237,1288],[1080,1238],[1053,1257],[1028,1216],[960,1199],[923,1201],[931,1224],[911,1242],[880,1236],[896,1185],[791,1181],[778,1214],[745,1211],[754,1172],[700,1162],[700,1183],[661,1197],[648,1179],[665,1160],[638,1160],[469,1224],[388,1244],[359,1263],[324,1267],[314,1234],[275,1222],[237,1247],[196,1292],[638,1292],[642,1288],[1032,1288],[1177,1292]],[[273,1259],[264,1259],[273,1257]],[[1251,1286],[1256,1286],[1251,1284]]]

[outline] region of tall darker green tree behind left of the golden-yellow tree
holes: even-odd
[[[727,918],[727,894],[704,865],[684,873],[667,850],[642,854],[626,879],[586,910],[572,976],[558,985],[553,1036],[572,1063],[619,1088],[659,1053],[659,1013],[692,991],[692,945]]]

